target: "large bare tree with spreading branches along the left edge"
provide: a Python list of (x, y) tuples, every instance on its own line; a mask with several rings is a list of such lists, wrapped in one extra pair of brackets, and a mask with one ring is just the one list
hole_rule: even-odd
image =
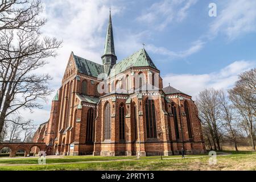
[[(40, 1), (2, 1), (5, 2), (14, 2), (6, 8), (1, 4), (5, 22), (8, 11), (16, 11), (15, 3), (24, 5), (22, 10), (29, 10), (22, 13), (21, 19), (25, 21), (22, 24), (18, 20), (18, 25), (1, 25), (5, 28), (0, 31), (0, 132), (7, 118), (20, 108), (42, 107), (38, 100), (46, 100), (51, 93), (48, 87), (51, 77), (36, 71), (47, 64), (47, 58), (56, 56), (56, 49), (61, 45), (56, 39), (43, 37), (39, 32), (45, 22), (38, 16), (42, 10)], [(13, 28), (6, 28), (11, 25)]]

